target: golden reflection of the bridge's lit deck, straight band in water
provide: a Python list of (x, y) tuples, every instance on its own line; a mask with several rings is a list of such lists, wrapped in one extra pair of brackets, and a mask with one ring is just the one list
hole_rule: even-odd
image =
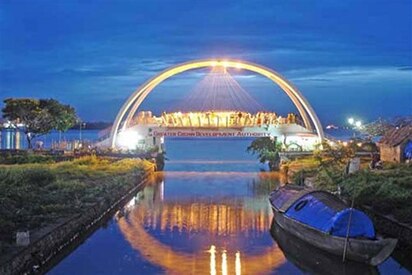
[[(260, 201), (260, 200), (259, 200)], [(257, 207), (256, 207), (257, 205)], [(145, 227), (163, 233), (177, 230), (191, 233), (208, 232), (212, 236), (261, 236), (270, 227), (271, 209), (267, 203), (253, 199), (228, 201), (164, 201), (162, 204), (141, 202), (133, 209)]]

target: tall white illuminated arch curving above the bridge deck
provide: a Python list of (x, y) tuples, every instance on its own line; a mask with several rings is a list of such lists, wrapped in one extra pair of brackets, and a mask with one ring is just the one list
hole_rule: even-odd
[[(116, 145), (116, 134), (119, 130), (120, 123), (122, 122), (125, 115), (128, 113), (126, 121), (124, 123), (124, 128), (127, 127), (128, 123), (131, 121), (134, 113), (139, 108), (140, 104), (145, 100), (145, 98), (150, 94), (150, 92), (164, 80), (172, 77), (176, 74), (180, 74), (182, 72), (210, 67), (210, 66), (225, 66), (228, 68), (239, 68), (249, 70), (260, 75), (263, 75), (277, 85), (279, 85), (282, 90), (289, 96), (292, 100), (293, 104), (299, 111), (305, 126), (307, 129), (312, 130), (312, 124), (315, 126), (316, 132), (320, 140), (324, 139), (324, 133), (322, 125), (317, 117), (315, 111), (313, 110), (312, 106), (306, 100), (306, 98), (299, 92), (299, 90), (292, 85), (286, 78), (278, 74), (277, 72), (269, 69), (267, 67), (251, 63), (245, 61), (236, 61), (236, 60), (219, 60), (219, 59), (205, 59), (205, 60), (193, 60), (186, 63), (178, 64), (176, 66), (170, 67), (163, 72), (159, 73), (158, 75), (154, 76), (153, 78), (149, 79), (145, 83), (143, 83), (140, 87), (138, 87), (135, 92), (130, 95), (130, 97), (126, 100), (126, 102), (121, 107), (119, 113), (116, 116), (116, 119), (113, 123), (112, 130), (110, 132), (110, 144), (111, 147), (115, 147)], [(133, 104), (133, 106), (132, 106)], [(132, 108), (131, 108), (132, 107)], [(309, 117), (308, 117), (309, 115)]]

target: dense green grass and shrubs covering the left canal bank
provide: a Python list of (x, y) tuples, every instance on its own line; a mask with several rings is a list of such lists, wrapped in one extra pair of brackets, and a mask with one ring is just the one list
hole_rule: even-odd
[(112, 200), (136, 182), (147, 161), (113, 161), (94, 156), (53, 164), (0, 166), (0, 241), (17, 230), (87, 211), (100, 200)]

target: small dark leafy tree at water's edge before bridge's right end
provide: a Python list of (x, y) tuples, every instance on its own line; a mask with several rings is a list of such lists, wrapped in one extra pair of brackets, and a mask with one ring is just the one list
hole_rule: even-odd
[(271, 171), (279, 170), (280, 155), (282, 144), (276, 138), (261, 137), (257, 138), (247, 147), (246, 151), (257, 154), (261, 163), (268, 162)]

